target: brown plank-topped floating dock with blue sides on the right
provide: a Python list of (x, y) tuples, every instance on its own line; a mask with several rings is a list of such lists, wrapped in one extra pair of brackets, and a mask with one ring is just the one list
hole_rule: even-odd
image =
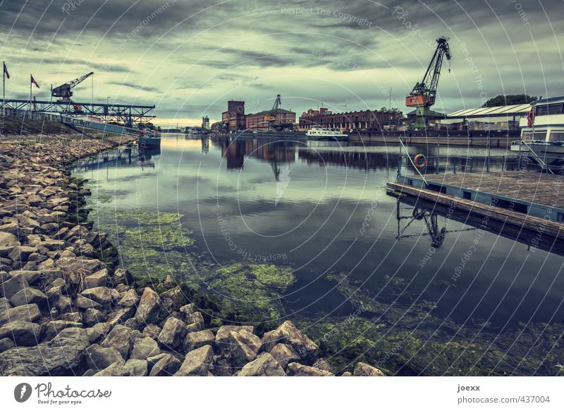
[(564, 175), (539, 172), (398, 176), (396, 193), (564, 239)]

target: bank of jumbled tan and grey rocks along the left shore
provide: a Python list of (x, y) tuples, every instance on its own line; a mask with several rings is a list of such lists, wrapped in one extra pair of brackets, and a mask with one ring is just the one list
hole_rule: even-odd
[[(212, 327), (183, 283), (167, 276), (136, 288), (116, 268), (116, 249), (87, 219), (90, 191), (63, 167), (126, 142), (78, 133), (3, 141), (0, 375), (333, 376), (290, 321), (263, 335)], [(384, 375), (362, 362), (341, 375), (353, 374)]]

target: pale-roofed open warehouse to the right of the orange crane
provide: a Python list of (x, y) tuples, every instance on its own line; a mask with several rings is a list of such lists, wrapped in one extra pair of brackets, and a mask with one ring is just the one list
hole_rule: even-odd
[(531, 111), (530, 104), (462, 109), (436, 120), (437, 131), (518, 131), (519, 120)]

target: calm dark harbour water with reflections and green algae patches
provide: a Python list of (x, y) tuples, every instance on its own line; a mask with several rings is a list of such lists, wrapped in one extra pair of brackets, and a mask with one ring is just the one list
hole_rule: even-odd
[[(410, 151), (437, 154), (436, 146)], [(338, 367), (364, 358), (408, 375), (557, 374), (563, 256), (448, 212), (412, 218), (412, 205), (386, 194), (399, 154), (389, 145), (178, 136), (143, 161), (113, 150), (76, 171), (91, 180), (92, 218), (130, 256), (125, 266), (138, 275), (168, 270), (235, 306), (248, 302), (249, 287), (255, 308), (300, 324)], [(171, 232), (190, 241), (169, 231), (161, 244), (124, 237), (135, 224), (116, 213), (147, 211), (182, 215)], [(250, 275), (223, 287), (238, 277), (210, 271), (234, 263), (288, 268), (295, 282), (269, 288)]]

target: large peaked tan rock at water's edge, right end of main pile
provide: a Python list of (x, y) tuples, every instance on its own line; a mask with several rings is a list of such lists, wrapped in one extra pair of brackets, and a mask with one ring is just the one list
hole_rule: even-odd
[(312, 364), (319, 352), (317, 344), (298, 330), (292, 321), (284, 321), (276, 330), (264, 333), (262, 350), (270, 352), (278, 342), (290, 345), (305, 364)]

